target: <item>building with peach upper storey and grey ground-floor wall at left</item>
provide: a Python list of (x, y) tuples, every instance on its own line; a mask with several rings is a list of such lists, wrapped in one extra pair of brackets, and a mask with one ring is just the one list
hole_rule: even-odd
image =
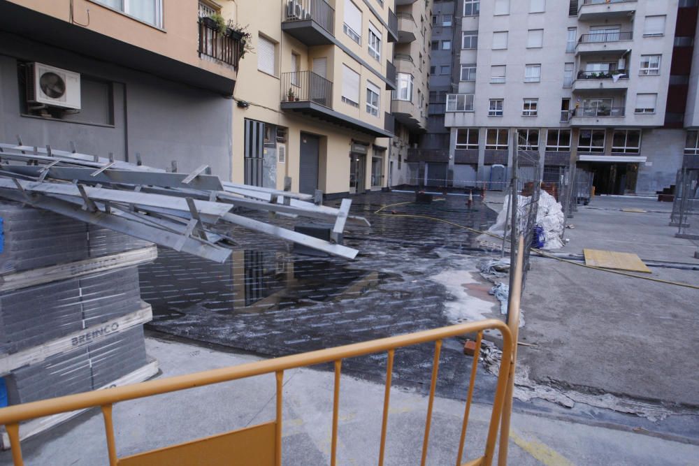
[(0, 141), (230, 179), (241, 36), (203, 15), (194, 1), (0, 1)]

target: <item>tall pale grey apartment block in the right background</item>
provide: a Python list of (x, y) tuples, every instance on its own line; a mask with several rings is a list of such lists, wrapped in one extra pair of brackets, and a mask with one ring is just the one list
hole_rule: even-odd
[(593, 173), (598, 193), (675, 184), (697, 144), (696, 1), (460, 0), (457, 10), (449, 155), (426, 162), (450, 175), (436, 184), (491, 181), (515, 143), (538, 152), (545, 178), (570, 163)]

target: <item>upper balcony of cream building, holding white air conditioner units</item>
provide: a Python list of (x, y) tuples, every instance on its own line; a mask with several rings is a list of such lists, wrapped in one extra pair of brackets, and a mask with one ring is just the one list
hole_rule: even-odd
[(305, 45), (331, 45), (335, 10), (325, 0), (287, 0), (282, 31)]

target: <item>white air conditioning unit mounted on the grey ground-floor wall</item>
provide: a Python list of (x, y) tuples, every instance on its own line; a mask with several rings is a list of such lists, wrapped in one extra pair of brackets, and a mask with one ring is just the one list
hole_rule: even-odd
[(80, 110), (80, 73), (27, 64), (27, 102)]

